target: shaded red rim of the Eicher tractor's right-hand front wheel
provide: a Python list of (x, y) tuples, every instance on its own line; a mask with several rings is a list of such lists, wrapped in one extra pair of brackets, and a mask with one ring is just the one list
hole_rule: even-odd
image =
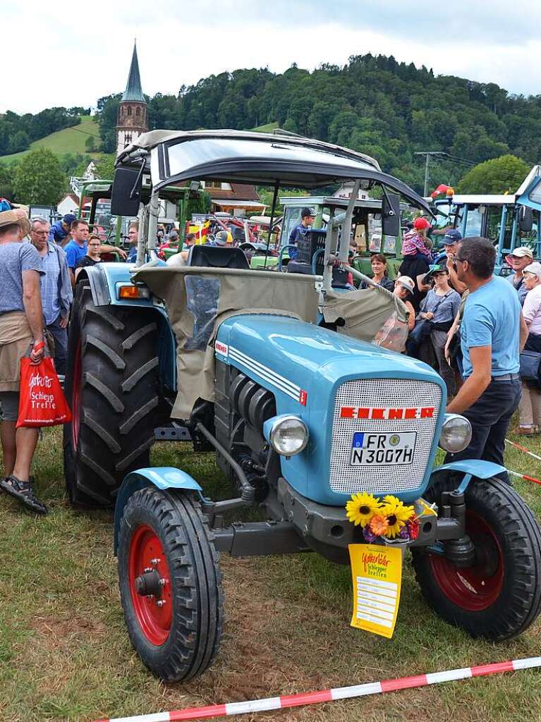
[(482, 612), (500, 596), (503, 554), (493, 530), (473, 511), (466, 512), (466, 533), (475, 547), (472, 567), (459, 569), (437, 554), (430, 554), (430, 567), (436, 583), (453, 604), (467, 612)]

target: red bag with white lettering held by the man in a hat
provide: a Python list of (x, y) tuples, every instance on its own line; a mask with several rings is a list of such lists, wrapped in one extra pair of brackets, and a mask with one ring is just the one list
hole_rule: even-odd
[(72, 412), (60, 386), (51, 358), (38, 364), (21, 359), (19, 418), (20, 426), (56, 426), (72, 420)]

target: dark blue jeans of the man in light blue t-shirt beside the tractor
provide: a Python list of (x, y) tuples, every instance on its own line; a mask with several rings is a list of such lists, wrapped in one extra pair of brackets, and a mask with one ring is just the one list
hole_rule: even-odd
[[(464, 451), (448, 453), (445, 463), (467, 458), (482, 458), (494, 464), (503, 464), (506, 434), (511, 417), (519, 406), (520, 379), (492, 380), (475, 404), (462, 412), (472, 425), (472, 440)], [(507, 471), (498, 478), (509, 484)]]

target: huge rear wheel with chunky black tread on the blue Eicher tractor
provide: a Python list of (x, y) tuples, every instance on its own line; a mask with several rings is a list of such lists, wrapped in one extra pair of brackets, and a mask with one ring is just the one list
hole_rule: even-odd
[(159, 402), (152, 310), (97, 306), (77, 284), (68, 337), (64, 471), (72, 503), (109, 506), (126, 473), (148, 466)]

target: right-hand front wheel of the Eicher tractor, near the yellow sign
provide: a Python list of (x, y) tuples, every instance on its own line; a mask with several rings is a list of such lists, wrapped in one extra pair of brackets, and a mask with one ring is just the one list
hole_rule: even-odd
[[(439, 503), (456, 484), (442, 477), (425, 498)], [(471, 567), (412, 549), (417, 582), (428, 604), (472, 637), (501, 641), (524, 632), (541, 612), (541, 529), (532, 510), (500, 479), (473, 479), (466, 495)]]

